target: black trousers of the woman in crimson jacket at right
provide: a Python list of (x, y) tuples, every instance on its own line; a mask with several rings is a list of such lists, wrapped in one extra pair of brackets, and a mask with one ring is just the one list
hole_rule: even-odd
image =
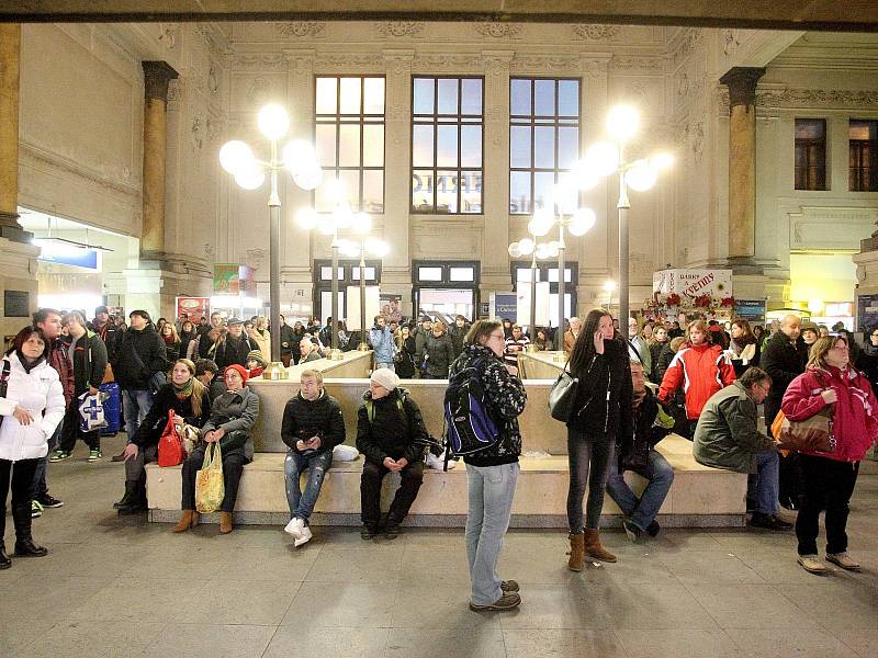
[(817, 555), (820, 510), (825, 507), (826, 554), (847, 551), (848, 502), (857, 483), (859, 462), (836, 462), (826, 457), (799, 455), (799, 514), (796, 537), (799, 555)]

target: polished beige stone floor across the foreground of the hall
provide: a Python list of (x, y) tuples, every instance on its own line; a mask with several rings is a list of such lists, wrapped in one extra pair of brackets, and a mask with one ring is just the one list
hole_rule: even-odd
[(862, 574), (806, 574), (791, 533), (677, 530), (643, 545), (606, 533), (619, 563), (575, 575), (564, 534), (518, 531), (500, 566), (524, 602), (491, 614), (466, 608), (460, 531), (367, 543), (317, 527), (296, 549), (280, 527), (120, 519), (120, 446), (50, 466), (66, 504), (34, 521), (49, 556), (0, 572), (0, 656), (878, 656), (874, 462), (849, 523)]

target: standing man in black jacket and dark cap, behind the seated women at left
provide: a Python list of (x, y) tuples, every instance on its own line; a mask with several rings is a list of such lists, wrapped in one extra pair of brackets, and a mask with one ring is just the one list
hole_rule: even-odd
[(113, 374), (122, 389), (125, 432), (131, 443), (147, 412), (153, 407), (153, 394), (165, 383), (168, 363), (165, 341), (156, 331), (149, 314), (132, 310), (131, 326), (116, 350)]

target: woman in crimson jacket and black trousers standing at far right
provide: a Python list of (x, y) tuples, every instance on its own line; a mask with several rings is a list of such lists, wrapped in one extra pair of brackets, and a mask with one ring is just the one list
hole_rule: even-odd
[(800, 453), (798, 460), (798, 561), (812, 574), (826, 570), (817, 553), (818, 521), (823, 507), (826, 560), (851, 571), (860, 568), (847, 555), (845, 526), (859, 462), (878, 435), (877, 404), (869, 381), (851, 366), (847, 341), (842, 337), (818, 339), (811, 347), (804, 373), (792, 381), (784, 395), (780, 409), (792, 421), (811, 418), (832, 405), (835, 451)]

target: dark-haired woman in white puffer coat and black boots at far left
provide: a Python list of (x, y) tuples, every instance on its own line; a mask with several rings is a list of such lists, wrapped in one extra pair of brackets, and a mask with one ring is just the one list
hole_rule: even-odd
[(48, 452), (47, 439), (64, 418), (64, 389), (58, 373), (46, 362), (48, 349), (43, 330), (26, 327), (0, 362), (0, 569), (12, 566), (3, 544), (10, 481), (15, 555), (43, 557), (48, 553), (31, 536), (34, 470)]

